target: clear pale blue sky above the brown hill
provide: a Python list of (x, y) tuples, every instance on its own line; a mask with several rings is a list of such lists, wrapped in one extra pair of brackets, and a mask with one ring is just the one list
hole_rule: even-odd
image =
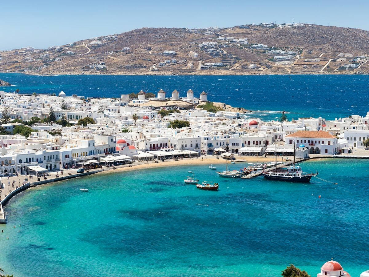
[(141, 27), (233, 27), (283, 21), (369, 30), (369, 1), (3, 0), (0, 49), (47, 48)]

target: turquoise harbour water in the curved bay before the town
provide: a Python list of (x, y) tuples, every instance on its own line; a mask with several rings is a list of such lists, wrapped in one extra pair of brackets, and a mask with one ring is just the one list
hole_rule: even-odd
[[(369, 269), (369, 161), (301, 165), (338, 184), (227, 179), (204, 165), (30, 189), (6, 206), (0, 267), (20, 277), (280, 276), (294, 263), (314, 276), (333, 257), (359, 276)], [(219, 191), (185, 185), (187, 171)]]

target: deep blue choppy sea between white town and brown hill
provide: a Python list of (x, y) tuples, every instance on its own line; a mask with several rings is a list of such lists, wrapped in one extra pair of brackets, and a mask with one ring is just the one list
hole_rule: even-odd
[[(85, 97), (120, 97), (121, 94), (159, 89), (171, 96), (174, 89), (186, 96), (188, 89), (208, 100), (244, 107), (255, 112), (250, 116), (275, 119), (280, 112), (290, 112), (289, 119), (322, 116), (327, 120), (365, 115), (368, 107), (368, 75), (241, 75), (241, 76), (126, 76), (59, 75), (34, 76), (0, 73), (0, 79), (15, 86), (1, 90), (21, 93), (56, 93), (63, 90)], [(271, 112), (270, 112), (271, 111)]]

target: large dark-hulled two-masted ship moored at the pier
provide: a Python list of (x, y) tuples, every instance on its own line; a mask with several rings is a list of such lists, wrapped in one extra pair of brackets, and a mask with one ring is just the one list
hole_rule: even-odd
[[(294, 148), (295, 149), (295, 148)], [(318, 175), (317, 173), (305, 173), (302, 171), (301, 167), (295, 165), (295, 155), (294, 155), (293, 165), (289, 167), (277, 168), (277, 144), (276, 144), (276, 161), (275, 169), (263, 170), (261, 174), (265, 179), (275, 180), (275, 181), (287, 181), (287, 182), (300, 182), (307, 183), (313, 176)]]

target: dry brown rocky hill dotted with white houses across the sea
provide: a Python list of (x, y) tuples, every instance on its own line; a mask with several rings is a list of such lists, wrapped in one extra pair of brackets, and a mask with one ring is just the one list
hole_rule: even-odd
[(369, 73), (369, 32), (313, 24), (142, 28), (0, 57), (1, 72), (45, 75), (357, 74)]

